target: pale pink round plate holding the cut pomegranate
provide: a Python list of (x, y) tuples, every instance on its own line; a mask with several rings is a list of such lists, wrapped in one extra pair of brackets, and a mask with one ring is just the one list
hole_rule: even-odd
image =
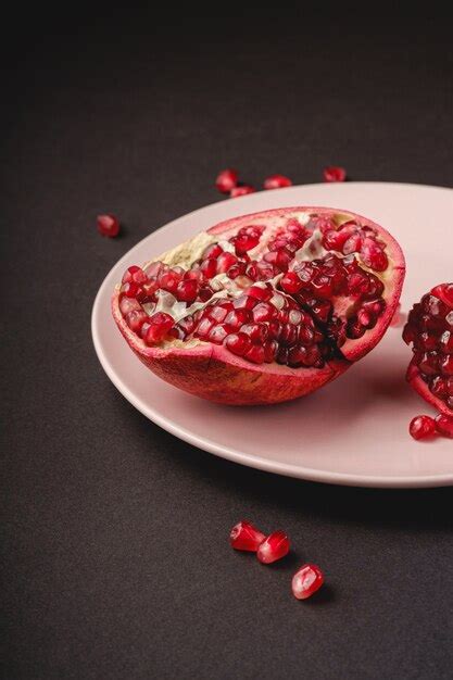
[(236, 215), (291, 205), (326, 205), (366, 215), (400, 241), (407, 261), (402, 307), (453, 280), (453, 190), (416, 185), (349, 182), (263, 191), (179, 217), (133, 248), (108, 274), (95, 301), (92, 337), (116, 388), (176, 437), (230, 461), (301, 479), (363, 487), (453, 483), (453, 441), (419, 443), (407, 425), (430, 413), (406, 386), (410, 350), (401, 328), (344, 376), (320, 391), (278, 406), (211, 404), (176, 390), (134, 356), (110, 314), (124, 269)]

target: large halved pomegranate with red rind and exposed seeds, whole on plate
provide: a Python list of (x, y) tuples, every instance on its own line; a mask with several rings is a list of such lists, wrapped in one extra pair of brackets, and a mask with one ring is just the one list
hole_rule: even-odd
[(129, 267), (115, 322), (158, 376), (225, 404), (272, 404), (320, 388), (380, 340), (404, 257), (380, 226), (326, 207), (223, 222)]

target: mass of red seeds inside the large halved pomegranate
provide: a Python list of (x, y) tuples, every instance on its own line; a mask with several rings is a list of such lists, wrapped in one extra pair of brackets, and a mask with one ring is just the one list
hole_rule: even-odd
[[(260, 259), (251, 259), (248, 253), (260, 244), (264, 228), (250, 225), (229, 239), (228, 250), (221, 243), (206, 248), (188, 270), (161, 262), (146, 269), (129, 267), (121, 289), (123, 316), (148, 344), (194, 337), (224, 344), (232, 354), (255, 364), (320, 368), (347, 338), (360, 338), (374, 328), (385, 308), (382, 282), (361, 268), (348, 242), (355, 239), (362, 257), (365, 251), (370, 253), (368, 266), (377, 270), (387, 255), (368, 227), (349, 222), (336, 229), (325, 218), (312, 226), (322, 229), (326, 250), (335, 249), (345, 256), (330, 252), (311, 262), (297, 262), (294, 254), (312, 231), (290, 219), (267, 242)], [(231, 247), (234, 253), (229, 252)], [(219, 274), (238, 279), (243, 292), (236, 299), (214, 295), (212, 279)], [(275, 284), (272, 279), (278, 276)], [(203, 308), (175, 324), (169, 314), (153, 313), (160, 297), (167, 293), (187, 306), (202, 302)], [(335, 315), (332, 298), (338, 295), (354, 301), (348, 319)]]

